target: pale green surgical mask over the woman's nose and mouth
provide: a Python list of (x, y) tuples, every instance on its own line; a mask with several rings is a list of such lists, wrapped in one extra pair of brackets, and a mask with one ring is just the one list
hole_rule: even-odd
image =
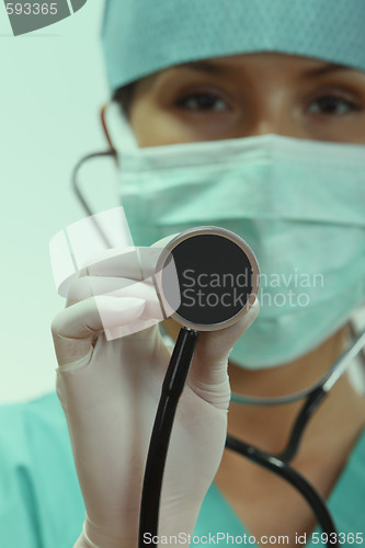
[(119, 142), (122, 204), (137, 246), (215, 225), (255, 253), (261, 310), (233, 363), (288, 363), (365, 300), (365, 147), (265, 135), (140, 149), (130, 130)]

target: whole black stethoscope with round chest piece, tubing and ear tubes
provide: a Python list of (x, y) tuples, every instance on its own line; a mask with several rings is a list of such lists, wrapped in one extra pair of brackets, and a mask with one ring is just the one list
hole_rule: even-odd
[[(89, 155), (77, 164), (72, 174), (73, 190), (89, 216), (93, 214), (80, 190), (79, 171), (85, 161), (105, 156), (115, 157), (115, 151), (110, 150)], [(96, 226), (96, 228), (105, 246), (110, 248), (107, 237), (100, 227)], [(215, 259), (217, 256), (224, 256), (225, 260), (217, 261)], [(196, 298), (196, 306), (191, 306), (192, 293), (189, 294), (189, 305), (186, 298), (182, 298), (184, 296), (183, 292), (180, 292), (180, 295), (176, 296), (175, 284), (169, 281), (169, 275), (171, 274), (168, 273), (171, 273), (172, 270), (166, 267), (169, 263), (171, 264), (171, 261), (173, 261), (174, 272), (178, 274), (180, 286), (183, 285), (182, 276), (186, 269), (190, 272), (190, 277), (194, 273), (195, 285), (198, 288), (197, 290), (201, 292), (199, 299)], [(227, 275), (227, 273), (232, 278), (235, 276), (237, 278), (237, 276), (244, 273), (248, 281), (243, 288), (241, 283), (236, 287), (236, 289), (239, 288), (242, 292), (242, 296), (240, 299), (231, 299), (231, 302), (235, 304), (231, 307), (226, 306), (227, 296), (224, 301), (221, 300), (223, 293), (219, 295), (219, 290), (216, 287), (217, 284), (215, 284), (215, 290), (212, 294), (209, 284), (205, 283), (202, 286), (198, 283), (202, 276), (204, 276), (204, 281), (206, 282), (209, 279), (209, 276), (223, 276)], [(146, 533), (149, 534), (148, 544), (157, 546), (157, 543), (153, 543), (153, 538), (158, 538), (160, 495), (170, 435), (179, 399), (182, 395), (198, 340), (198, 333), (201, 331), (227, 328), (244, 316), (258, 295), (259, 278), (259, 265), (248, 243), (233, 232), (219, 227), (197, 227), (186, 230), (171, 240), (161, 251), (155, 275), (156, 292), (162, 310), (169, 308), (171, 311), (172, 309), (173, 313), (170, 313), (169, 317), (182, 327), (162, 384), (149, 444), (140, 505), (139, 548), (145, 546), (144, 539)], [(240, 276), (241, 279), (242, 276)], [(231, 288), (233, 289), (233, 287)], [(205, 295), (204, 297), (204, 290), (208, 293), (210, 290), (209, 296)], [(227, 295), (227, 285), (224, 287), (224, 292)], [(214, 295), (214, 298), (212, 298), (212, 295)], [(202, 298), (205, 298), (204, 307), (198, 306), (198, 302), (202, 304)], [(179, 306), (176, 306), (176, 299), (179, 299)], [(224, 302), (224, 306), (219, 306), (221, 302)], [(337, 540), (335, 525), (326, 501), (306, 478), (290, 466), (290, 463), (298, 453), (309, 419), (364, 346), (365, 330), (353, 339), (349, 347), (319, 381), (306, 390), (277, 398), (259, 398), (237, 393), (233, 393), (231, 397), (231, 401), (233, 402), (256, 406), (276, 406), (292, 403), (300, 399), (305, 400), (289, 434), (287, 445), (281, 454), (269, 454), (230, 435), (227, 436), (226, 447), (273, 471), (297, 489), (311, 507), (323, 533), (327, 534), (328, 540), (326, 544), (331, 547), (339, 547), (340, 544)]]

